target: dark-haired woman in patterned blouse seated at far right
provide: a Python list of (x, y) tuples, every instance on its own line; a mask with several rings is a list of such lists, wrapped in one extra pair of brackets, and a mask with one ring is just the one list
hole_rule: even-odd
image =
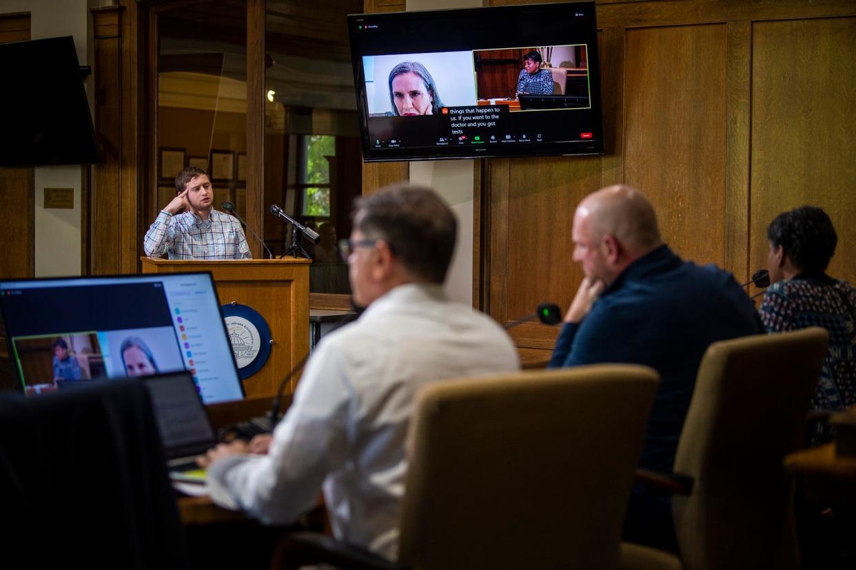
[(808, 326), (829, 331), (829, 350), (811, 408), (844, 409), (856, 404), (856, 288), (826, 274), (838, 242), (832, 220), (823, 209), (803, 206), (776, 216), (767, 228), (767, 238), (773, 285), (761, 303), (764, 326), (769, 332)]

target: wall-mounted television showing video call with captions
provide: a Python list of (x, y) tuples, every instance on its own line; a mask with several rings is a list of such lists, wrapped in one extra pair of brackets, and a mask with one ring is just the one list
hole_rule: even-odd
[(348, 16), (366, 162), (603, 152), (595, 4)]

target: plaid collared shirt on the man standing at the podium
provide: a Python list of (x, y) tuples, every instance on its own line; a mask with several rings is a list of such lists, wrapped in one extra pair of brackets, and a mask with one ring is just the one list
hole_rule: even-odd
[(169, 259), (252, 259), (241, 222), (211, 209), (208, 220), (193, 212), (172, 215), (161, 210), (143, 240), (146, 256)]

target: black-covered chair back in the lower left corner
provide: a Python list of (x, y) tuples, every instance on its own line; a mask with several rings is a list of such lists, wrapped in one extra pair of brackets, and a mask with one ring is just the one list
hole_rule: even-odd
[(187, 568), (146, 386), (0, 396), (3, 540), (32, 567)]

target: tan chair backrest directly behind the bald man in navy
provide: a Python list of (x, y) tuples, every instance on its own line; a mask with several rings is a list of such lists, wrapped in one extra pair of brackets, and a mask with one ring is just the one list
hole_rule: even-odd
[(799, 332), (710, 345), (675, 455), (693, 477), (673, 497), (688, 570), (797, 568), (793, 479), (782, 460), (804, 440), (809, 400), (829, 335)]

